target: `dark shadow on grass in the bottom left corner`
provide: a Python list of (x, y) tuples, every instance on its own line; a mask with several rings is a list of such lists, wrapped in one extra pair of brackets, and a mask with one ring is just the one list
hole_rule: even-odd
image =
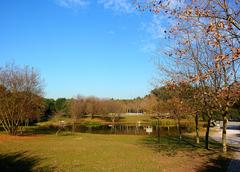
[(38, 167), (42, 159), (28, 156), (26, 152), (0, 154), (1, 172), (51, 172), (54, 167)]

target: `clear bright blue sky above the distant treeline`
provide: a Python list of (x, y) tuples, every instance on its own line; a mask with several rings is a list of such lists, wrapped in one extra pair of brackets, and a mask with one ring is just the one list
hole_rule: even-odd
[(48, 98), (142, 97), (160, 21), (131, 0), (1, 0), (0, 66), (34, 67)]

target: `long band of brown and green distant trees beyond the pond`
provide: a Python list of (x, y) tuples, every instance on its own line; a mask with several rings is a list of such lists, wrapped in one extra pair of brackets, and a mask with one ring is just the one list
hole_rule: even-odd
[[(88, 115), (94, 118), (95, 115), (105, 116), (110, 113), (147, 113), (153, 116), (159, 113), (162, 117), (171, 116), (173, 118), (174, 115), (171, 113), (173, 104), (168, 100), (170, 100), (170, 95), (165, 87), (152, 90), (144, 98), (128, 100), (101, 99), (93, 96), (77, 96), (72, 99), (58, 98), (56, 100), (44, 98), (44, 110), (40, 120), (46, 121), (53, 115), (74, 116), (74, 118)], [(189, 108), (191, 109), (191, 107)], [(186, 112), (191, 113), (190, 111)], [(186, 115), (185, 117), (182, 115), (182, 117), (187, 118)], [(204, 114), (201, 117), (205, 120)], [(214, 119), (221, 120), (221, 115), (217, 111), (214, 113)], [(229, 119), (240, 120), (240, 101), (230, 109)]]

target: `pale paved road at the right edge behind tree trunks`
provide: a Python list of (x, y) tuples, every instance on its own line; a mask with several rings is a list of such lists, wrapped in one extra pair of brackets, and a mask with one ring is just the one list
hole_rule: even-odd
[[(220, 127), (216, 130), (217, 132), (214, 132), (211, 137), (219, 142), (222, 142), (222, 130)], [(228, 123), (227, 143), (228, 145), (236, 147), (234, 159), (231, 160), (227, 172), (240, 172), (240, 122)]]

